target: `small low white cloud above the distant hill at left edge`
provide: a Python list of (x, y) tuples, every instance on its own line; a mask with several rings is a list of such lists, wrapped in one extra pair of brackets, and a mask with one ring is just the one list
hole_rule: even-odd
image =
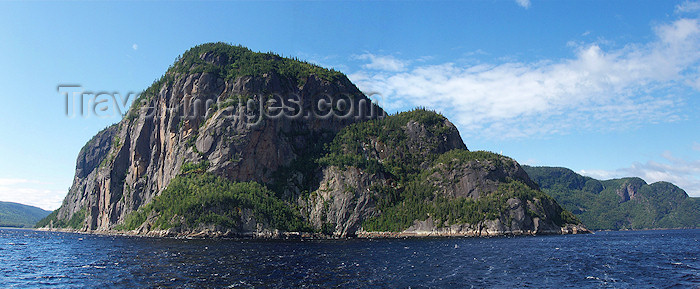
[(55, 190), (54, 184), (38, 180), (0, 178), (0, 201), (57, 209), (66, 191)]

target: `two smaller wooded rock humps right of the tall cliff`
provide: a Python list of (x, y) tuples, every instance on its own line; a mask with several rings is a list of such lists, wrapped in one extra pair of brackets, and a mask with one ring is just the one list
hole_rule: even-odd
[(456, 127), (433, 112), (353, 124), (330, 148), (307, 202), (315, 204), (313, 225), (335, 236), (587, 232), (517, 162), (468, 151)]

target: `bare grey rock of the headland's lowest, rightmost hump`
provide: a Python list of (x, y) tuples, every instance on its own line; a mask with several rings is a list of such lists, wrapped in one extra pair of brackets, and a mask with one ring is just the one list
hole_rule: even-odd
[[(447, 154), (449, 155), (449, 154)], [(450, 162), (445, 160), (452, 159)], [(414, 221), (403, 231), (415, 236), (496, 236), (534, 235), (588, 232), (574, 219), (563, 220), (564, 210), (552, 198), (543, 194), (508, 195), (504, 184), (518, 182), (518, 190), (538, 192), (537, 185), (514, 160), (504, 156), (491, 156), (478, 160), (459, 160), (458, 157), (441, 158), (427, 177), (436, 194), (448, 200), (466, 198), (476, 200), (506, 196), (500, 212), (494, 218), (483, 218), (472, 223), (448, 220), (436, 222)], [(505, 200), (505, 201), (503, 201)], [(498, 205), (492, 204), (492, 205)]]

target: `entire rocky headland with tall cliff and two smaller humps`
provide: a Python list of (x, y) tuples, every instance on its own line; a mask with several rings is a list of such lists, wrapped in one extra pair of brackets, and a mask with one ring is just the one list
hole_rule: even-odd
[(386, 116), (341, 73), (211, 43), (83, 147), (63, 205), (40, 224), (171, 236), (585, 230), (567, 213), (515, 161), (469, 152), (434, 112)]

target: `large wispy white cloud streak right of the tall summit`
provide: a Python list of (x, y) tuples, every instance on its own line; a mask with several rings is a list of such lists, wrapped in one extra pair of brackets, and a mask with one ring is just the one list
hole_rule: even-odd
[(674, 92), (692, 88), (689, 81), (700, 75), (700, 23), (678, 19), (654, 32), (649, 43), (609, 50), (572, 44), (571, 59), (530, 63), (409, 67), (409, 61), (367, 53), (360, 58), (370, 61), (367, 70), (350, 78), (363, 91), (380, 92), (389, 111), (426, 106), (453, 119), (464, 134), (481, 137), (677, 121), (687, 96)]

